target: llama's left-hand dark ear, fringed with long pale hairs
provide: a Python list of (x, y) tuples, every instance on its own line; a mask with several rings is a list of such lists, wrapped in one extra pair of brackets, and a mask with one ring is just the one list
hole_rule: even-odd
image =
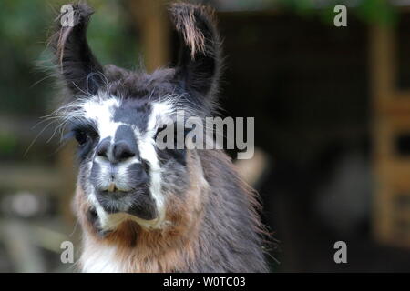
[(97, 94), (104, 84), (103, 68), (87, 44), (87, 25), (93, 12), (85, 4), (64, 5), (50, 42), (59, 73), (75, 95)]

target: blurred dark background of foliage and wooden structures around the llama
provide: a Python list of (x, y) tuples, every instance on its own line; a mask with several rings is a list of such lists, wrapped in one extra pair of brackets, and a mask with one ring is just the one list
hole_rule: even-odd
[[(172, 64), (167, 2), (88, 1), (100, 62)], [(277, 240), (272, 271), (410, 271), (410, 1), (201, 2), (224, 40), (222, 115), (255, 117), (255, 156), (236, 165)], [(74, 146), (42, 118), (58, 99), (46, 40), (63, 4), (0, 2), (0, 272), (76, 270), (60, 261), (63, 241), (80, 246)], [(347, 264), (333, 261), (339, 240)]]

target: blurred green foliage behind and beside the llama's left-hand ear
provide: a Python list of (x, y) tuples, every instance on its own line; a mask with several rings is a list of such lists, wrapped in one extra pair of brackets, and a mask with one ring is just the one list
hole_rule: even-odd
[[(67, 2), (67, 1), (66, 1)], [(0, 1), (0, 114), (42, 115), (49, 101), (51, 55), (46, 49), (50, 28), (63, 1)], [(138, 63), (136, 37), (122, 1), (91, 0), (88, 39), (102, 64), (132, 67)]]

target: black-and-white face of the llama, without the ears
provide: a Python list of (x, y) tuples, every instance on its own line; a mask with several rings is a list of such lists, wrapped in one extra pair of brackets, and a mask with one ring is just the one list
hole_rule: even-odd
[(175, 121), (175, 101), (163, 99), (100, 93), (68, 106), (78, 143), (79, 183), (87, 189), (102, 230), (124, 219), (158, 227), (169, 193), (183, 191), (185, 150), (156, 145), (159, 131)]

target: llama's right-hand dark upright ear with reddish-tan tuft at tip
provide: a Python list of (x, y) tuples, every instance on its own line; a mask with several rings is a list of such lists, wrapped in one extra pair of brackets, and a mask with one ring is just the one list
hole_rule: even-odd
[(186, 3), (171, 5), (169, 11), (180, 39), (176, 76), (188, 91), (211, 97), (220, 75), (220, 36), (213, 12)]

